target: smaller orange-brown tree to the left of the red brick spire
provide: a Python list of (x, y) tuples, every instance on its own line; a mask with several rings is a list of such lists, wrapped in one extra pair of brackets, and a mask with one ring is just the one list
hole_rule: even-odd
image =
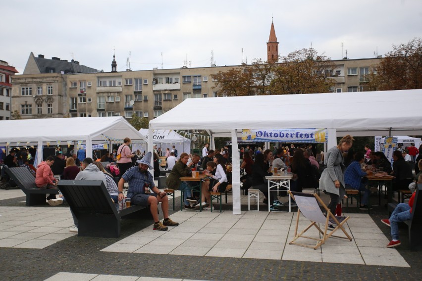
[(248, 67), (233, 68), (225, 72), (219, 71), (211, 74), (212, 80), (216, 80), (212, 89), (219, 88), (218, 96), (241, 96), (250, 95), (253, 86), (252, 72)]

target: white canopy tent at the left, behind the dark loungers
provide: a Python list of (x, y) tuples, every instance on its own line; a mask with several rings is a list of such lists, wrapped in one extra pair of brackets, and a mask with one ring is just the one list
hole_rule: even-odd
[[(0, 132), (0, 143), (29, 141), (41, 147), (46, 142), (83, 141), (87, 155), (92, 155), (93, 141), (147, 141), (122, 116), (6, 120), (0, 122)], [(37, 153), (40, 161), (41, 149)]]

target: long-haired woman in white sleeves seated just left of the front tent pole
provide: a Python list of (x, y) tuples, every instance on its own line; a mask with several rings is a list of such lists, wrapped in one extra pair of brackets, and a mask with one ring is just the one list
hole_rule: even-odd
[[(199, 203), (195, 206), (195, 208), (199, 208), (200, 204), (203, 207), (206, 207), (206, 199), (207, 202), (211, 203), (211, 195), (210, 192), (224, 192), (228, 185), (227, 182), (227, 170), (225, 168), (226, 159), (221, 154), (217, 154), (214, 157), (214, 162), (207, 163), (207, 170), (204, 171), (204, 174), (211, 178), (208, 182), (204, 182), (202, 184), (202, 203)], [(212, 171), (215, 169), (215, 174), (212, 174)], [(211, 172), (210, 172), (211, 170)], [(204, 208), (206, 209), (206, 208)]]

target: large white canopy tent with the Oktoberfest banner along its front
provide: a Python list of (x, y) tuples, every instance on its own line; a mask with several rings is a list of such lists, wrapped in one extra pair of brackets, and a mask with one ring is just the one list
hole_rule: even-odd
[[(422, 90), (357, 93), (295, 94), (241, 97), (189, 98), (150, 121), (153, 129), (208, 130), (213, 137), (237, 137), (242, 129), (326, 128), (327, 145), (336, 137), (422, 135), (422, 112), (406, 110), (397, 101), (421, 104)], [(212, 115), (186, 118), (192, 108), (211, 108)], [(149, 150), (153, 142), (149, 142)], [(239, 154), (233, 154), (233, 214), (240, 214)]]

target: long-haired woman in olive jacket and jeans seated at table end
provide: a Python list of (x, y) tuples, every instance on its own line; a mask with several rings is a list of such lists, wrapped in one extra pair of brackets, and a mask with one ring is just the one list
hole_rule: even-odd
[(174, 164), (173, 169), (171, 169), (170, 174), (165, 180), (165, 184), (167, 188), (184, 191), (183, 199), (185, 202), (185, 209), (194, 209), (195, 207), (193, 206), (193, 203), (191, 206), (191, 203), (188, 201), (188, 199), (193, 200), (191, 187), (188, 183), (180, 181), (180, 178), (192, 175), (191, 168), (186, 166), (188, 160), (188, 153), (183, 152), (180, 154), (180, 159), (177, 160), (176, 164)]

